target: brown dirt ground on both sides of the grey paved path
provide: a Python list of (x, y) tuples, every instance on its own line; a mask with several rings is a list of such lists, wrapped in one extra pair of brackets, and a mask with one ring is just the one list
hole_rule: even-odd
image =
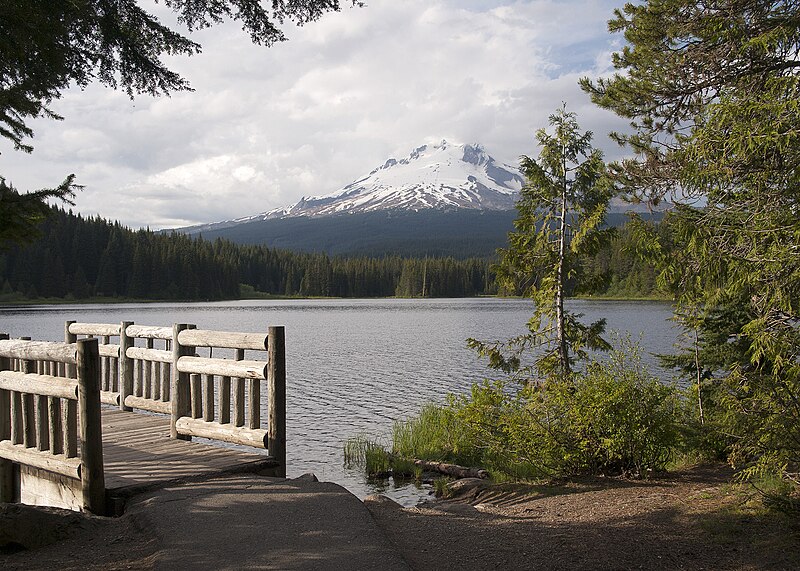
[[(385, 498), (365, 505), (417, 570), (800, 569), (800, 522), (765, 512), (730, 477), (716, 466), (650, 481), (462, 480), (454, 498), (424, 507)], [(3, 505), (0, 567), (158, 568), (159, 540), (140, 518)]]

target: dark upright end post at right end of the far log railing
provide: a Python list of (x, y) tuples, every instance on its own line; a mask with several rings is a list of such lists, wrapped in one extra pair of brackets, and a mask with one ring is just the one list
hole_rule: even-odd
[(283, 327), (269, 328), (269, 438), (270, 456), (280, 462), (277, 475), (286, 477), (286, 332)]

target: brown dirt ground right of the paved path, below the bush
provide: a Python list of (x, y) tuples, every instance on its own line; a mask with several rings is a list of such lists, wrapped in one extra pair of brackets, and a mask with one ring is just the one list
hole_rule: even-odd
[(651, 481), (461, 481), (427, 507), (366, 503), (413, 569), (800, 569), (800, 522), (730, 477), (716, 466)]

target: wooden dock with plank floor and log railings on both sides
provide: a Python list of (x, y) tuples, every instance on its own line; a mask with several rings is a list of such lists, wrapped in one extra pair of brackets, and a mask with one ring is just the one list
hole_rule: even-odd
[(180, 482), (285, 476), (284, 339), (129, 321), (68, 321), (64, 343), (0, 333), (0, 501), (117, 515)]

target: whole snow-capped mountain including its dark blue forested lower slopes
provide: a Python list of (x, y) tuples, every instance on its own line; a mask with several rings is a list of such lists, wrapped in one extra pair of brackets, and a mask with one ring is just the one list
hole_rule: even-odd
[[(513, 230), (523, 184), (519, 169), (481, 145), (442, 140), (389, 158), (335, 192), (176, 231), (333, 255), (490, 257)], [(610, 225), (622, 220), (615, 211), (629, 209), (621, 206)]]

